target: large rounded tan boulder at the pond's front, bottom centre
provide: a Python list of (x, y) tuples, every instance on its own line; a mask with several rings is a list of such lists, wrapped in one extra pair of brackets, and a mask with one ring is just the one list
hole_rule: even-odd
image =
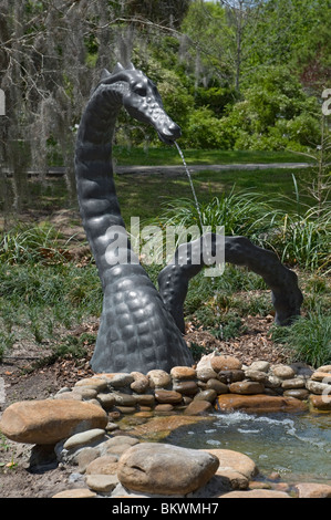
[(201, 450), (141, 443), (121, 457), (117, 477), (134, 491), (186, 495), (206, 485), (218, 465), (217, 457)]

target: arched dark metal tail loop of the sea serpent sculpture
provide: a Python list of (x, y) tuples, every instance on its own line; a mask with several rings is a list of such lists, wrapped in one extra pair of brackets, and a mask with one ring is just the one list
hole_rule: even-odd
[[(189, 280), (206, 267), (204, 258), (208, 258), (208, 254), (215, 257), (216, 239), (217, 236), (211, 233), (211, 241), (201, 237), (180, 245), (172, 261), (158, 275), (159, 293), (183, 333), (185, 332), (184, 302)], [(210, 245), (210, 251), (204, 251), (206, 245)], [(271, 289), (276, 324), (289, 325), (293, 318), (300, 314), (303, 301), (297, 274), (285, 267), (272, 251), (255, 246), (245, 237), (225, 237), (224, 248), (225, 262), (247, 267), (262, 277)], [(199, 263), (193, 262), (197, 249), (200, 251)], [(184, 251), (187, 254), (186, 262), (179, 261)]]

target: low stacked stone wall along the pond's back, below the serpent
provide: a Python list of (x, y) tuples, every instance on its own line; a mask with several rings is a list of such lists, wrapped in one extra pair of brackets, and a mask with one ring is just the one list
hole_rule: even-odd
[(203, 356), (195, 368), (176, 366), (170, 373), (154, 370), (96, 374), (62, 388), (54, 398), (91, 401), (116, 419), (136, 412), (256, 412), (331, 410), (331, 365), (317, 370), (303, 363), (249, 366), (229, 355)]

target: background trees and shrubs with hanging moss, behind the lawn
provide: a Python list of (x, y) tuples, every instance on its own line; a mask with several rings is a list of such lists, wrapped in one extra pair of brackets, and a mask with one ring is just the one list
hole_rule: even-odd
[[(1, 0), (0, 164), (13, 171), (10, 184), (1, 175), (2, 207), (27, 198), (29, 168), (44, 183), (50, 165), (65, 166), (74, 195), (75, 127), (116, 61), (157, 83), (183, 146), (310, 146), (310, 95), (330, 83), (330, 20), (329, 0)], [(132, 125), (123, 113), (118, 144), (159, 145)]]

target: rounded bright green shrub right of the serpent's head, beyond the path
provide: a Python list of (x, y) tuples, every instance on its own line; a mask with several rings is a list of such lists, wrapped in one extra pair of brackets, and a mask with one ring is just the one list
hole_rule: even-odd
[(320, 141), (319, 107), (285, 67), (268, 67), (250, 77), (238, 102), (223, 119), (237, 149), (307, 149)]

